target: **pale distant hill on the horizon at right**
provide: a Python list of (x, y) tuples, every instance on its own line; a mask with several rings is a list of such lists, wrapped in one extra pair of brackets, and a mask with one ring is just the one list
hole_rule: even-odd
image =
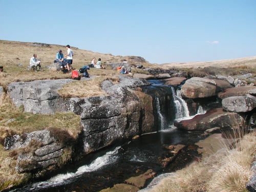
[(161, 66), (175, 67), (175, 68), (204, 68), (204, 67), (215, 67), (215, 68), (230, 68), (230, 67), (242, 67), (247, 66), (248, 68), (256, 68), (256, 56), (243, 57), (237, 59), (224, 59), (215, 61), (203, 61), (203, 62), (171, 62), (164, 63)]

